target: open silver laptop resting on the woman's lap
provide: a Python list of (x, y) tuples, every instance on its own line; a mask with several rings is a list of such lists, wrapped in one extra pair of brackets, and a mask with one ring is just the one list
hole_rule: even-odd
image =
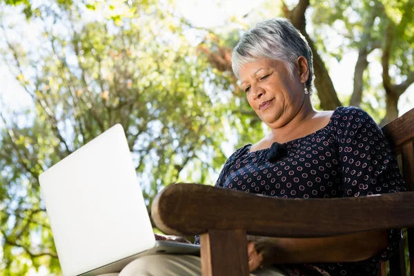
[(116, 273), (155, 253), (199, 255), (199, 246), (156, 241), (120, 124), (39, 176), (65, 276)]

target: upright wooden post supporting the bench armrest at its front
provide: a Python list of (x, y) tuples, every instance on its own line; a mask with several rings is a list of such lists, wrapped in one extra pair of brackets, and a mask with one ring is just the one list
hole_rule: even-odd
[(202, 276), (248, 276), (244, 230), (209, 230), (201, 238)]

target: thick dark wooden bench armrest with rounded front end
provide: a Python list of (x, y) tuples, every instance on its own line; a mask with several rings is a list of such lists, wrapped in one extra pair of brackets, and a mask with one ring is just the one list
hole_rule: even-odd
[(328, 237), (414, 226), (414, 192), (280, 199), (199, 184), (173, 184), (153, 202), (152, 218), (160, 230), (173, 235), (246, 229), (250, 235), (268, 237)]

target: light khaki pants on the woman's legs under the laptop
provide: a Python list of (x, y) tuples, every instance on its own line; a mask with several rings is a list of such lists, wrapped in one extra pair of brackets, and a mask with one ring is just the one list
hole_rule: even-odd
[[(264, 268), (250, 276), (286, 276), (277, 268)], [(120, 273), (99, 276), (201, 276), (201, 259), (191, 255), (147, 255), (130, 262)]]

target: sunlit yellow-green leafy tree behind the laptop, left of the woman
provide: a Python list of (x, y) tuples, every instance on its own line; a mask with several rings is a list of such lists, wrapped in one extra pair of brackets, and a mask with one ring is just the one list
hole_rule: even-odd
[(33, 101), (26, 113), (0, 109), (6, 275), (42, 264), (59, 273), (38, 177), (110, 126), (126, 130), (148, 208), (172, 182), (211, 183), (229, 135), (230, 110), (219, 101), (226, 92), (217, 94), (217, 76), (184, 36), (190, 27), (173, 3), (50, 0), (30, 10), (37, 41), (1, 26), (0, 57)]

